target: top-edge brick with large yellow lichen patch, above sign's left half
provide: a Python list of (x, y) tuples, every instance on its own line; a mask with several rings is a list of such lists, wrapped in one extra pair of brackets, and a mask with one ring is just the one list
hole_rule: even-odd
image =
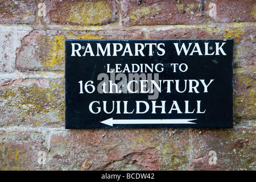
[(46, 24), (100, 25), (118, 19), (118, 5), (114, 0), (46, 0)]

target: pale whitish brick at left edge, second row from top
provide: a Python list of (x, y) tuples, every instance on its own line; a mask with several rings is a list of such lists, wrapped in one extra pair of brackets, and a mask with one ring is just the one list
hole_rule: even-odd
[(0, 26), (0, 73), (14, 71), (16, 49), (31, 30), (28, 26)]

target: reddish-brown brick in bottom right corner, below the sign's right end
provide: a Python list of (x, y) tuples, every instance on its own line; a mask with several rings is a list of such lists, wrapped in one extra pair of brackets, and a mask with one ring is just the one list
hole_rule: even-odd
[[(193, 130), (190, 134), (193, 170), (255, 170), (255, 128)], [(216, 152), (216, 163), (210, 164)]]

